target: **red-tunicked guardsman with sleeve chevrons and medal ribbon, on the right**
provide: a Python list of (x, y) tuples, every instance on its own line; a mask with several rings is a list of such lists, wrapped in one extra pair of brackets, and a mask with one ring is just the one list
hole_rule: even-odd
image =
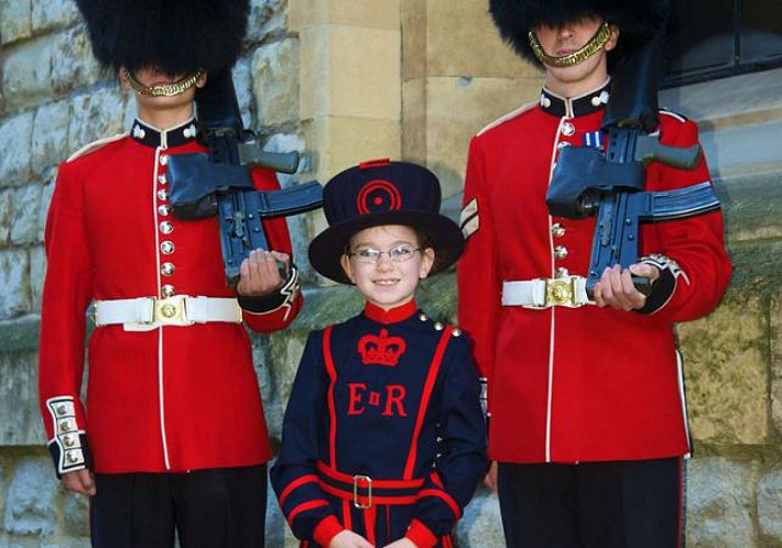
[[(600, 146), (609, 64), (655, 33), (659, 2), (492, 0), (503, 36), (545, 69), (540, 100), (471, 141), (458, 267), (459, 319), (487, 379), (488, 453), (508, 546), (674, 547), (690, 452), (675, 322), (708, 315), (732, 267), (718, 212), (644, 224), (636, 276), (608, 269), (587, 297), (595, 217), (552, 216), (563, 147)], [(613, 59), (613, 60), (612, 60)], [(698, 144), (662, 111), (665, 145)], [(652, 163), (645, 190), (709, 181)], [(566, 284), (567, 297), (547, 287)]]

